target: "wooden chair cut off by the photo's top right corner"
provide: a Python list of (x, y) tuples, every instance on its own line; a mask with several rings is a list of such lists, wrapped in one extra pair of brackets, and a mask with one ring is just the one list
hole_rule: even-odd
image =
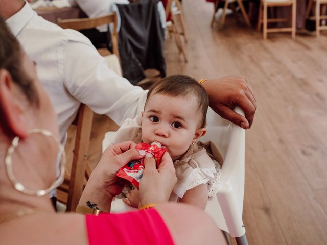
[[(316, 21), (316, 37), (319, 37), (320, 30), (327, 30), (327, 26), (320, 26), (320, 21), (323, 19), (327, 19), (327, 15), (321, 15), (321, 5), (327, 4), (327, 0), (309, 0), (305, 21), (307, 19)], [(310, 12), (313, 10), (313, 5), (315, 5), (315, 15), (309, 17)], [(323, 10), (325, 10), (326, 6), (323, 6)], [(322, 11), (325, 13), (325, 11)], [(305, 26), (305, 24), (304, 24)]]

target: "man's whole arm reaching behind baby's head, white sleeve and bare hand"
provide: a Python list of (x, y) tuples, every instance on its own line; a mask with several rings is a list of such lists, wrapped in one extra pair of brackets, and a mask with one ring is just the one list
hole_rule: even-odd
[[(110, 70), (82, 34), (71, 36), (63, 50), (64, 80), (69, 93), (96, 113), (108, 115), (118, 125), (139, 114), (144, 109), (147, 91)], [(256, 103), (244, 77), (207, 80), (202, 85), (215, 112), (244, 129), (251, 127)], [(245, 118), (233, 111), (236, 105), (243, 109)]]

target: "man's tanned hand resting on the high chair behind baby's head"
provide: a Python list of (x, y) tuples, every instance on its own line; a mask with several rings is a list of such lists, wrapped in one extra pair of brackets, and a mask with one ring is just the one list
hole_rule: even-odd
[[(251, 128), (256, 101), (251, 85), (241, 76), (228, 76), (207, 80), (202, 83), (210, 100), (210, 107), (221, 117), (239, 125), (243, 129)], [(245, 118), (233, 111), (239, 106)]]

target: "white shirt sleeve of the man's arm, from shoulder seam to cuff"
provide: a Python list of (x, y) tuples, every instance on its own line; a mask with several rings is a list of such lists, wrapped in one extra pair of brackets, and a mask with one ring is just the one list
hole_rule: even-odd
[(59, 69), (62, 69), (65, 89), (78, 101), (98, 114), (106, 114), (118, 125), (141, 113), (147, 91), (133, 86), (110, 70), (85, 36), (66, 30), (66, 37), (66, 43), (58, 54), (62, 57), (59, 58)]

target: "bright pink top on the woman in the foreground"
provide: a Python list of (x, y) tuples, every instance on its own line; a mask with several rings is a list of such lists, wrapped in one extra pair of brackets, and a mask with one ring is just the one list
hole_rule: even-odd
[(174, 244), (164, 220), (153, 208), (120, 214), (86, 215), (86, 229), (90, 245)]

